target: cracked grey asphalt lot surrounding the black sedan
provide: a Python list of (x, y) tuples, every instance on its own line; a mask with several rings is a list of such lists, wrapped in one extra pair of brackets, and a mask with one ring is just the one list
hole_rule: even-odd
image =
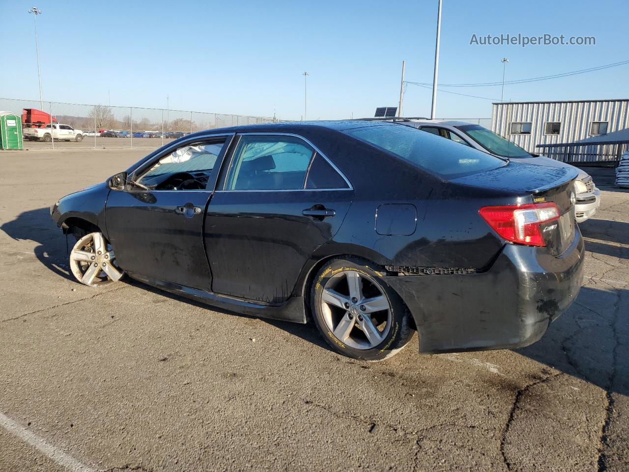
[(374, 364), (311, 325), (76, 283), (48, 207), (147, 152), (0, 152), (0, 471), (629, 470), (629, 192), (581, 225), (584, 287), (542, 340)]

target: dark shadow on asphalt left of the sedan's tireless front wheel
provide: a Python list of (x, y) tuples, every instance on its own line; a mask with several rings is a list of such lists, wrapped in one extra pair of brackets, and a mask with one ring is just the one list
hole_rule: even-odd
[(72, 236), (64, 236), (50, 218), (48, 208), (23, 211), (18, 217), (0, 226), (15, 240), (31, 240), (38, 245), (33, 249), (43, 266), (65, 279), (74, 280), (68, 267), (68, 254), (75, 243)]

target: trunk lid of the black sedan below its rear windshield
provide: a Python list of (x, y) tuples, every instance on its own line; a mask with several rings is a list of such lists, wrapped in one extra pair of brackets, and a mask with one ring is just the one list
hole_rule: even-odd
[(579, 171), (575, 167), (549, 167), (511, 161), (498, 169), (459, 177), (452, 182), (521, 194), (526, 197), (526, 201), (520, 203), (555, 203), (559, 208), (559, 220), (543, 223), (541, 229), (548, 250), (554, 256), (559, 256), (574, 239), (574, 179), (578, 175)]

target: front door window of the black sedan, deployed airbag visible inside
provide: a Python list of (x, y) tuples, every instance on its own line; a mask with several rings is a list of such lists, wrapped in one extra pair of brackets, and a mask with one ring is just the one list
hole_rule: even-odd
[(225, 140), (185, 145), (162, 156), (138, 183), (155, 190), (204, 189)]

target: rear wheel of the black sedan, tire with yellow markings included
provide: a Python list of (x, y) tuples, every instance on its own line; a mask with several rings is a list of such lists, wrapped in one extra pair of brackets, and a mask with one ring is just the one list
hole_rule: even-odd
[(313, 279), (310, 306), (315, 325), (340, 354), (382, 361), (413, 337), (411, 315), (381, 278), (383, 273), (364, 259), (341, 257), (321, 267)]

